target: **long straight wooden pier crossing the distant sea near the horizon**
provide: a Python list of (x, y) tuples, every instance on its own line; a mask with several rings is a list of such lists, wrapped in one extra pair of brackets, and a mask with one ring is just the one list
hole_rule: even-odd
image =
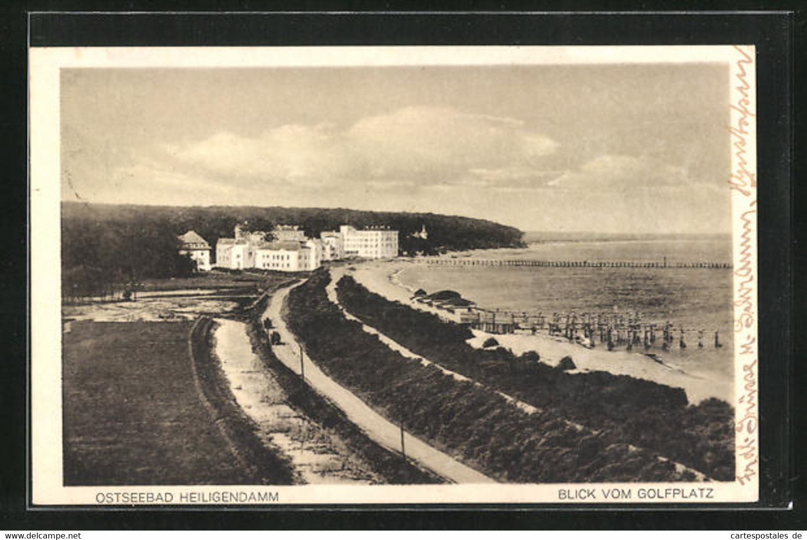
[(513, 266), (513, 267), (545, 267), (545, 268), (732, 268), (731, 263), (699, 262), (684, 263), (661, 261), (625, 261), (625, 260), (509, 260), (509, 259), (471, 259), (470, 257), (422, 257), (415, 259), (417, 263), (437, 264), (440, 266)]

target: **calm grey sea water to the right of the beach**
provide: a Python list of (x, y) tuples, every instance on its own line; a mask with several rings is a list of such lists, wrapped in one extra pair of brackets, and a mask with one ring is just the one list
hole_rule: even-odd
[[(703, 239), (580, 240), (531, 243), (524, 249), (479, 250), (454, 257), (502, 260), (730, 263), (728, 236)], [(649, 352), (701, 376), (732, 376), (732, 271), (728, 268), (554, 268), (409, 264), (395, 276), (412, 289), (452, 289), (485, 309), (516, 313), (641, 314), (670, 322), (675, 341), (662, 351), (661, 334)], [(679, 349), (679, 327), (687, 347)], [(704, 330), (704, 347), (698, 347)], [(717, 331), (722, 347), (714, 346)], [(642, 351), (643, 347), (634, 347)]]

